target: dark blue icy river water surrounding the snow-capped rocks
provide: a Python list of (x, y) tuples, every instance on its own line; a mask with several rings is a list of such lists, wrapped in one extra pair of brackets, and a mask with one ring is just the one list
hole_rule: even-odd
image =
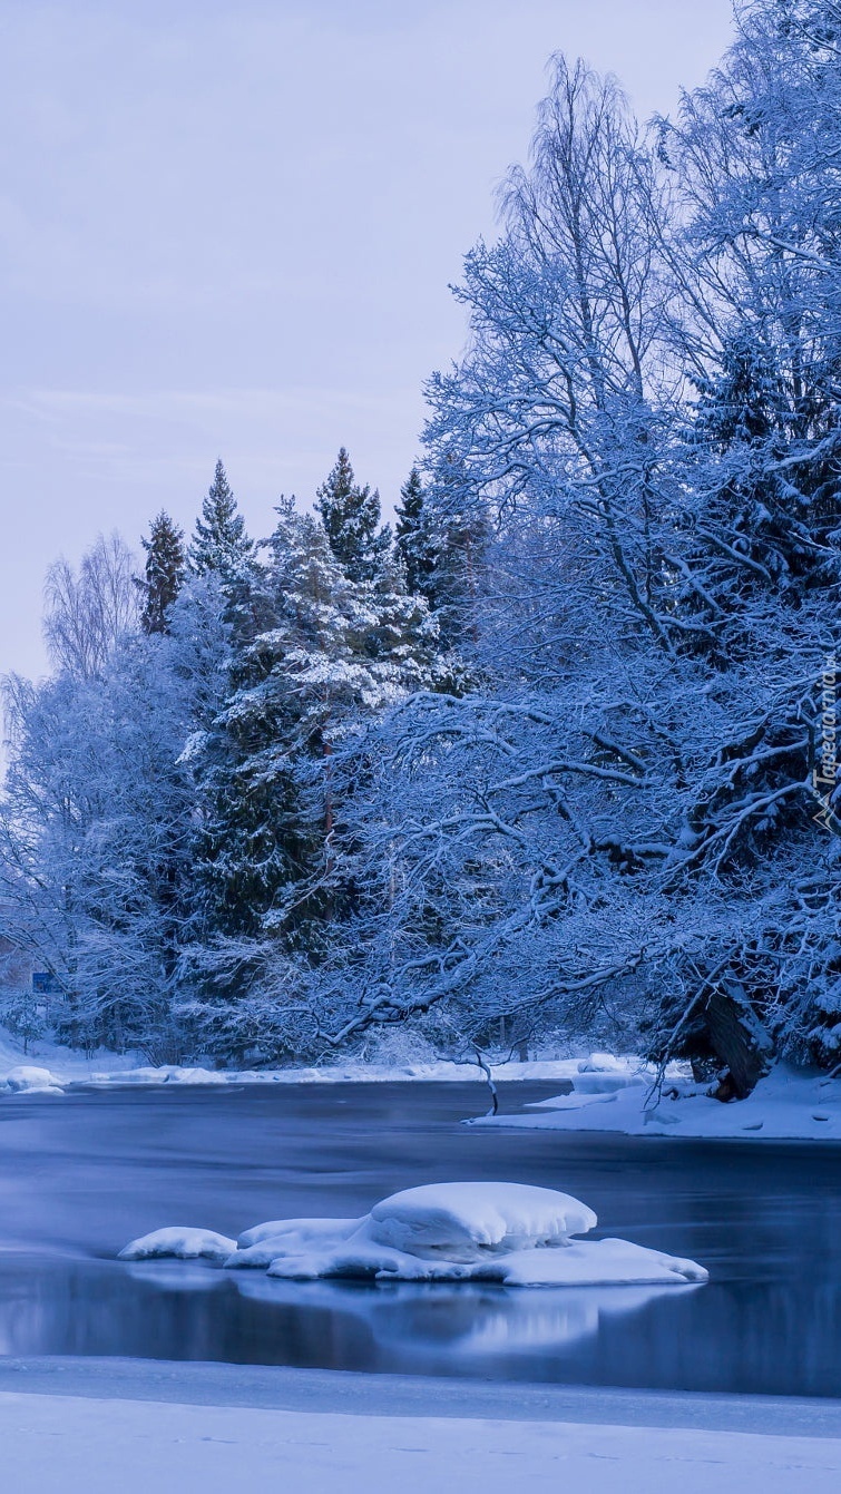
[[(518, 1109), (556, 1085), (502, 1086)], [(638, 1388), (841, 1395), (841, 1149), (460, 1125), (480, 1085), (0, 1098), (0, 1355), (133, 1355)], [(415, 1183), (505, 1179), (704, 1288), (270, 1282), (127, 1265), (134, 1236), (359, 1215)]]

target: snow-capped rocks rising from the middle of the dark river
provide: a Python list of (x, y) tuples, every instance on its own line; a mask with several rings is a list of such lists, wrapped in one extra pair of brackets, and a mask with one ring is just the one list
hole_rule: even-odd
[(122, 1261), (221, 1261), (229, 1270), (314, 1280), (496, 1282), (502, 1286), (656, 1286), (707, 1271), (629, 1240), (577, 1240), (598, 1224), (578, 1198), (524, 1183), (432, 1183), (361, 1219), (273, 1219), (233, 1240), (170, 1227), (133, 1240)]

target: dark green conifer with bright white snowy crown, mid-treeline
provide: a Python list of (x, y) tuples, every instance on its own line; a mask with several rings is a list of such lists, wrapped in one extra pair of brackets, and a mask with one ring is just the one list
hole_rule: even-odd
[[(330, 759), (357, 722), (433, 678), (435, 624), (402, 568), (351, 581), (323, 526), (278, 506), (261, 571), (266, 630), (240, 651), (208, 763), (199, 875), (227, 938), (312, 947), (336, 911)], [(318, 874), (330, 893), (302, 895)]]

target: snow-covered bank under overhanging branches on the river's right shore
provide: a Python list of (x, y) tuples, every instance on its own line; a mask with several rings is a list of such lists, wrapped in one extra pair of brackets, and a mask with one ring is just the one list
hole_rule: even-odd
[(668, 1079), (653, 1091), (648, 1076), (574, 1076), (574, 1092), (526, 1106), (521, 1115), (487, 1116), (471, 1125), (541, 1131), (621, 1131), (626, 1135), (695, 1138), (841, 1140), (841, 1082), (778, 1064), (747, 1100), (721, 1104), (704, 1086)]

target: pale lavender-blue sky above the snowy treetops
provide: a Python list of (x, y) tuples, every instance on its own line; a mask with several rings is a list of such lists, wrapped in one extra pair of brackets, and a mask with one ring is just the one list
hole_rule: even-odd
[(391, 502), (548, 55), (647, 117), (729, 30), (730, 0), (0, 0), (0, 671), (43, 668), (55, 554), (191, 526), (218, 454), (255, 533), (341, 444)]

